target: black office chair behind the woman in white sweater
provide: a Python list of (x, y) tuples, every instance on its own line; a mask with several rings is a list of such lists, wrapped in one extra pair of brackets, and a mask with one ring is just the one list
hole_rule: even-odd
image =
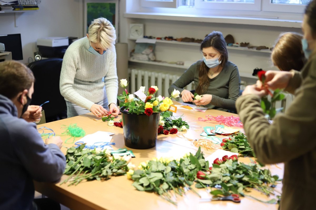
[(35, 77), (31, 105), (43, 105), (46, 122), (67, 118), (67, 107), (59, 91), (59, 77), (63, 59), (49, 58), (30, 63), (28, 67)]

